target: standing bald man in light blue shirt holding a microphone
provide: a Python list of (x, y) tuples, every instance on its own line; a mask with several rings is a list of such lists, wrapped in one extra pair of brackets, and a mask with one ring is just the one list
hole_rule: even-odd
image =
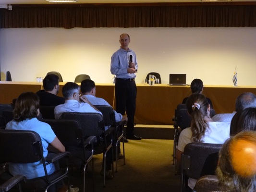
[(135, 84), (135, 73), (138, 70), (136, 54), (128, 48), (130, 36), (122, 34), (119, 38), (121, 44), (111, 57), (110, 72), (116, 75), (115, 95), (116, 111), (122, 115), (127, 114), (126, 138), (141, 140), (141, 137), (134, 135), (134, 115), (136, 108), (137, 88)]

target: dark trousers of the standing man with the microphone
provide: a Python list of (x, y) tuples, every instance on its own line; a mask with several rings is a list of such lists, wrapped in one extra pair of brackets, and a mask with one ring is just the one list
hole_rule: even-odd
[(136, 109), (137, 87), (135, 81), (116, 78), (116, 111), (128, 117), (126, 135), (134, 134), (134, 115)]

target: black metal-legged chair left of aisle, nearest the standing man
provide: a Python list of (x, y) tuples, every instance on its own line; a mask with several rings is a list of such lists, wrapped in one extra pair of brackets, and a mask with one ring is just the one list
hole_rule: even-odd
[[(115, 113), (112, 107), (104, 105), (95, 105), (96, 108), (102, 113), (104, 119), (104, 125), (114, 127), (115, 134), (115, 155), (116, 155), (116, 172), (117, 172), (117, 159), (118, 159), (118, 143), (123, 138), (123, 123), (116, 122)], [(122, 152), (123, 152), (123, 165), (125, 165), (125, 151), (124, 151), (124, 140), (122, 139)]]

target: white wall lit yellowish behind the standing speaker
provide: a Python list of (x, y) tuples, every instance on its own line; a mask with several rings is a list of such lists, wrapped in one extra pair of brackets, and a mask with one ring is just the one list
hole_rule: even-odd
[(119, 36), (128, 33), (138, 58), (136, 83), (148, 72), (186, 73), (187, 84), (256, 85), (256, 27), (210, 28), (11, 28), (0, 29), (1, 81), (10, 71), (12, 81), (36, 81), (49, 71), (63, 81), (89, 74), (96, 83), (110, 83), (110, 57)]

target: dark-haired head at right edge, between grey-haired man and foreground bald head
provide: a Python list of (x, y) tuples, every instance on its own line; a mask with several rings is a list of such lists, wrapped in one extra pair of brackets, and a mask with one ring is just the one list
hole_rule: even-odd
[(256, 131), (256, 108), (239, 110), (231, 120), (230, 135), (243, 131)]

